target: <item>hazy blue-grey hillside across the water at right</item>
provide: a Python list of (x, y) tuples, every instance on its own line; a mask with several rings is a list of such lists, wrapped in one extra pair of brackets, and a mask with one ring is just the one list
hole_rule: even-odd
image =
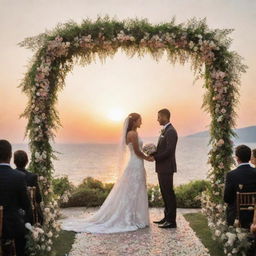
[[(236, 129), (237, 138), (235, 139), (237, 142), (256, 142), (256, 126), (249, 126), (240, 129)], [(208, 137), (209, 132), (203, 131), (188, 135), (186, 137), (194, 137), (194, 138), (203, 138)]]

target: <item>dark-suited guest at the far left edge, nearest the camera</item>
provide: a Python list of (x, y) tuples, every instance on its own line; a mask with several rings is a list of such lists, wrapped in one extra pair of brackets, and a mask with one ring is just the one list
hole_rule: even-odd
[[(0, 140), (0, 205), (3, 206), (3, 239), (14, 239), (17, 256), (25, 255), (25, 223), (32, 210), (27, 195), (25, 175), (10, 166), (11, 144)], [(26, 212), (28, 219), (20, 214)], [(33, 224), (33, 223), (32, 223)]]

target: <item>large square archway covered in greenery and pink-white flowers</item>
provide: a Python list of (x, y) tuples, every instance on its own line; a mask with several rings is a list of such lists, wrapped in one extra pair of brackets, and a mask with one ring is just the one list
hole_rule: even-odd
[[(46, 255), (47, 248), (50, 251), (50, 245), (45, 245), (44, 241), (49, 232), (54, 235), (58, 231), (54, 228), (57, 227), (57, 203), (51, 190), (52, 160), (55, 158), (51, 141), (60, 125), (55, 108), (58, 92), (74, 64), (89, 65), (96, 56), (104, 61), (118, 49), (129, 57), (150, 54), (155, 60), (166, 53), (172, 64), (190, 60), (195, 74), (204, 78), (203, 108), (212, 118), (211, 187), (203, 196), (204, 212), (210, 227), (224, 242), (226, 253), (232, 253), (234, 247), (238, 253), (243, 252), (245, 244), (239, 242), (240, 238), (236, 236), (231, 243), (227, 235), (227, 232), (237, 234), (238, 231), (226, 226), (222, 201), (224, 175), (233, 164), (232, 137), (235, 135), (240, 75), (246, 68), (241, 64), (240, 56), (229, 50), (230, 32), (232, 30), (210, 30), (205, 20), (192, 19), (178, 25), (172, 20), (152, 25), (147, 20), (118, 21), (105, 17), (95, 22), (85, 20), (81, 25), (74, 22), (58, 25), (53, 31), (20, 43), (35, 51), (21, 88), (29, 98), (23, 116), (28, 119), (26, 131), (32, 153), (30, 169), (40, 176), (46, 216), (44, 232), (36, 238), (37, 245), (34, 245), (38, 250), (36, 255)], [(240, 255), (238, 253), (236, 255)]]

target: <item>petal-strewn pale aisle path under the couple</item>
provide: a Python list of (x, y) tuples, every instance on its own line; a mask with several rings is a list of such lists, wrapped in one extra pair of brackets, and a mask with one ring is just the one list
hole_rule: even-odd
[[(70, 214), (73, 217), (79, 217), (81, 213), (86, 216), (96, 209), (64, 209), (64, 219), (61, 221), (65, 222)], [(151, 208), (151, 224), (148, 228), (115, 234), (78, 233), (69, 256), (209, 256), (182, 216), (183, 212), (178, 210), (177, 229), (160, 229), (153, 224), (152, 220), (161, 218), (163, 209)]]

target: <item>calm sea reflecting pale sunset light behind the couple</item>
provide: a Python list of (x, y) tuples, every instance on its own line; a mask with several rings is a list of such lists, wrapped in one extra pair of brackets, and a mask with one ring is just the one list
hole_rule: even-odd
[[(145, 139), (144, 143), (156, 141)], [(239, 143), (242, 144), (242, 143)], [(256, 143), (244, 143), (256, 148)], [(205, 179), (209, 147), (208, 138), (182, 137), (177, 144), (178, 171), (174, 176), (174, 184), (179, 185), (191, 180)], [(59, 160), (54, 161), (55, 176), (67, 175), (75, 184), (79, 184), (88, 176), (103, 182), (115, 182), (117, 177), (118, 153), (116, 144), (54, 144), (60, 152)], [(29, 152), (25, 144), (14, 144), (13, 150), (23, 149)], [(13, 165), (13, 163), (12, 163)], [(14, 165), (13, 165), (14, 166)], [(155, 166), (145, 161), (148, 184), (157, 184)]]

